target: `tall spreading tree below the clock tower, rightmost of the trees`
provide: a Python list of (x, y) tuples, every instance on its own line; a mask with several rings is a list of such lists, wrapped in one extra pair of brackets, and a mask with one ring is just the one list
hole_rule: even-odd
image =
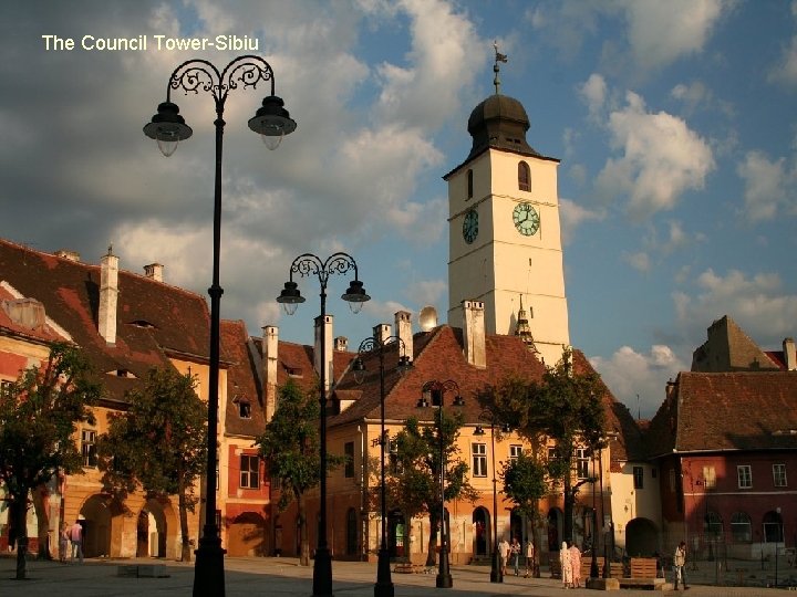
[(603, 446), (605, 387), (596, 373), (573, 370), (572, 352), (566, 350), (541, 381), (508, 379), (488, 392), (500, 420), (517, 421), (518, 431), (535, 446), (555, 442), (548, 458), (549, 478), (562, 485), (563, 537), (572, 541), (572, 512), (581, 482), (573, 483), (576, 450), (596, 451)]

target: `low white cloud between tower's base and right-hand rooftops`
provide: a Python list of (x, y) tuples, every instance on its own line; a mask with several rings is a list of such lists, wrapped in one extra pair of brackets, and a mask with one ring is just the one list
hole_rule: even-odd
[(651, 418), (664, 400), (667, 379), (674, 379), (679, 371), (689, 370), (691, 366), (665, 345), (653, 345), (648, 354), (622, 346), (611, 358), (590, 357), (589, 360), (614, 397), (634, 416), (639, 396), (643, 418)]

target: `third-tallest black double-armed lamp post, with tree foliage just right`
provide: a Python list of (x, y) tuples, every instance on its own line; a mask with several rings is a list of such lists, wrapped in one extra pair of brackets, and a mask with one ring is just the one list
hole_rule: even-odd
[[(412, 367), (412, 360), (406, 354), (406, 346), (404, 341), (398, 336), (383, 337), (370, 337), (365, 338), (360, 343), (358, 348), (358, 357), (352, 364), (352, 370), (354, 371), (354, 379), (358, 383), (362, 383), (363, 374), (365, 371), (365, 363), (362, 359), (364, 353), (376, 352), (379, 355), (380, 363), (380, 492), (381, 492), (381, 510), (382, 510), (382, 543), (379, 551), (379, 561), (376, 564), (376, 584), (374, 585), (374, 597), (393, 597), (393, 580), (391, 579), (390, 572), (390, 552), (387, 551), (387, 501), (385, 499), (385, 475), (384, 475), (384, 450), (385, 443), (387, 443), (387, 437), (385, 436), (384, 429), (384, 352), (385, 347), (394, 343), (398, 344), (398, 366), (396, 367), (400, 374), (406, 371)], [(401, 353), (404, 354), (401, 354)]]

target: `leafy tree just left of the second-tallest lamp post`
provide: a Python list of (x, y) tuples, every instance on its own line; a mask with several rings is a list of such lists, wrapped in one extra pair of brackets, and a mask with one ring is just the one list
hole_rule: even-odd
[[(277, 409), (256, 440), (260, 457), (280, 489), (278, 507), (284, 512), (296, 500), (299, 517), (299, 565), (310, 565), (310, 544), (307, 530), (307, 493), (319, 484), (321, 468), (318, 396), (306, 394), (291, 379), (279, 389)], [(343, 458), (327, 454), (327, 470), (343, 462)]]

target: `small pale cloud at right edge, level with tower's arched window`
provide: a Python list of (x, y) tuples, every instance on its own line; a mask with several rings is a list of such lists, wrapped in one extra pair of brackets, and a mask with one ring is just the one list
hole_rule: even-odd
[(745, 213), (751, 220), (772, 220), (780, 209), (797, 213), (797, 165), (786, 158), (770, 160), (763, 151), (748, 151), (736, 172), (745, 181)]

